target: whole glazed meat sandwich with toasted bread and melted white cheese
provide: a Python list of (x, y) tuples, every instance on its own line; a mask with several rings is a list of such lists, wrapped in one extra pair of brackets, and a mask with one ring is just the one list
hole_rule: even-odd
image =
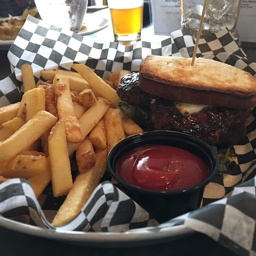
[(121, 109), (142, 113), (154, 130), (183, 132), (210, 145), (239, 143), (256, 105), (250, 73), (205, 58), (191, 66), (191, 58), (148, 55), (116, 92)]

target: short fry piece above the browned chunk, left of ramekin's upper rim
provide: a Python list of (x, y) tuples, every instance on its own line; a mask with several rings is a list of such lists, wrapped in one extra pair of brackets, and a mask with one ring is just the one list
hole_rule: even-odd
[(89, 134), (89, 140), (96, 149), (104, 149), (107, 146), (107, 138), (104, 120), (100, 119)]

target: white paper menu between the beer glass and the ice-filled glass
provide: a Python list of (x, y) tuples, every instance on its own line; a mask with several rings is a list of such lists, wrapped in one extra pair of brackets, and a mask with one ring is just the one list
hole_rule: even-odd
[(170, 35), (181, 28), (180, 0), (151, 0), (155, 35)]

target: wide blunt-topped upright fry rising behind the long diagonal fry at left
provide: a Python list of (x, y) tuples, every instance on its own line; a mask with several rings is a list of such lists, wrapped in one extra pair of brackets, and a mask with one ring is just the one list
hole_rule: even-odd
[(24, 93), (26, 102), (26, 122), (36, 113), (45, 110), (44, 88), (37, 87)]

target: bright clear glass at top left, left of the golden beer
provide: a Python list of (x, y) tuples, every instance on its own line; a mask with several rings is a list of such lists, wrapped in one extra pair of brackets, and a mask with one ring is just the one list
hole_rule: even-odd
[(79, 32), (88, 0), (35, 0), (42, 20), (52, 25)]

